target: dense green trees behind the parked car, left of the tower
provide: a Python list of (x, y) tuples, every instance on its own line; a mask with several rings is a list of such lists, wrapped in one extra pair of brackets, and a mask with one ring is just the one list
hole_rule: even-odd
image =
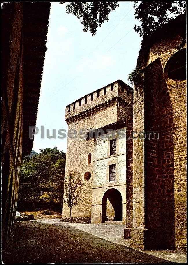
[[(34, 153), (34, 152), (32, 152)], [(38, 202), (58, 200), (62, 204), (66, 154), (57, 147), (40, 149), (21, 163), (19, 201), (21, 208), (35, 208)], [(45, 196), (44, 196), (45, 195)]]

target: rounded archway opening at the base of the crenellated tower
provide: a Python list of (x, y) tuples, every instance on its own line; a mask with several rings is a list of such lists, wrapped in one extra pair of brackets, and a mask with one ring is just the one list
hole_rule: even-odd
[(102, 223), (122, 221), (122, 196), (117, 189), (109, 189), (102, 198)]

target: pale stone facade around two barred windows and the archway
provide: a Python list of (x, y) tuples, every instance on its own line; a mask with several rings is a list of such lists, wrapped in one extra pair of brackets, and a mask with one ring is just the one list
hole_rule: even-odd
[[(119, 132), (124, 133), (120, 138)], [(116, 139), (116, 154), (110, 155), (110, 140)], [(109, 181), (109, 166), (116, 164), (116, 180)], [(126, 127), (99, 136), (95, 141), (93, 159), (92, 223), (101, 223), (102, 199), (109, 189), (117, 189), (122, 196), (123, 223), (126, 221)], [(112, 210), (107, 207), (107, 216)]]

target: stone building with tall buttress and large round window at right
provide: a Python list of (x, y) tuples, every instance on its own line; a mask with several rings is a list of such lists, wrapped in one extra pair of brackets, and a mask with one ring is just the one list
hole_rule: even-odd
[(133, 131), (159, 133), (133, 139), (130, 244), (140, 249), (186, 248), (185, 21), (180, 15), (143, 38), (137, 61)]

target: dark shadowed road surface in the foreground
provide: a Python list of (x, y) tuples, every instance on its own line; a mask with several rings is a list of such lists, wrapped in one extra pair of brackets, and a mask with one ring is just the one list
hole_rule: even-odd
[(23, 221), (4, 263), (170, 263), (68, 226)]

